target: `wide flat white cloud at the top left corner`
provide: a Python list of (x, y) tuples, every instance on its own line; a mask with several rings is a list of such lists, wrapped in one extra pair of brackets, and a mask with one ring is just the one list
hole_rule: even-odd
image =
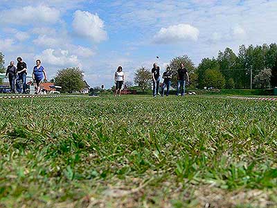
[(55, 24), (59, 19), (59, 10), (44, 5), (12, 8), (0, 14), (0, 24)]

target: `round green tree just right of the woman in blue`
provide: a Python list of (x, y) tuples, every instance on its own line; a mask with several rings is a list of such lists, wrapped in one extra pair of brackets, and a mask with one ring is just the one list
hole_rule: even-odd
[(62, 92), (79, 92), (84, 88), (83, 71), (79, 67), (71, 67), (57, 71), (55, 85), (62, 87)]

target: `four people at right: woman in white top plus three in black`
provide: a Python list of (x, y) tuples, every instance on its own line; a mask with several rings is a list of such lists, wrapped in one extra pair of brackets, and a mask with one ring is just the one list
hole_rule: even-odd
[[(153, 64), (153, 68), (151, 71), (152, 75), (152, 83), (153, 83), (153, 96), (156, 97), (159, 94), (159, 84), (160, 84), (160, 67), (157, 63)], [(172, 72), (170, 67), (166, 68), (166, 71), (163, 72), (163, 85), (161, 86), (161, 96), (164, 96), (166, 89), (166, 96), (169, 95), (171, 80), (172, 80)], [(114, 74), (114, 83), (116, 85), (116, 91), (114, 96), (121, 94), (122, 85), (124, 82), (124, 73), (122, 71), (122, 67), (118, 67), (116, 73)], [(188, 76), (188, 70), (185, 68), (184, 64), (180, 64), (180, 68), (177, 71), (177, 93), (176, 96), (181, 92), (181, 96), (185, 95), (186, 92), (186, 83), (190, 82), (190, 78)]]

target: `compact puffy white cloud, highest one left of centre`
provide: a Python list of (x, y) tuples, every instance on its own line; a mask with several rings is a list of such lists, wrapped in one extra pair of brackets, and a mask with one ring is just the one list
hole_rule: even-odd
[(74, 32), (80, 37), (86, 37), (93, 42), (107, 40), (104, 21), (97, 14), (77, 10), (74, 13), (72, 26)]

